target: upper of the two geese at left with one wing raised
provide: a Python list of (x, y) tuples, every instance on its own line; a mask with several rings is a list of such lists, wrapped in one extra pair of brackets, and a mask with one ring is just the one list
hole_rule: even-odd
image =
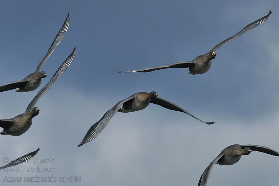
[(62, 25), (62, 28), (59, 30), (58, 34), (56, 35), (54, 41), (51, 44), (51, 47), (48, 49), (47, 54), (42, 59), (41, 63), (38, 65), (35, 72), (29, 74), (24, 79), (16, 82), (10, 82), (7, 84), (0, 85), (0, 92), (3, 91), (9, 91), (12, 89), (17, 88), (16, 92), (28, 92), (33, 91), (37, 89), (42, 81), (42, 78), (47, 77), (47, 74), (45, 71), (41, 71), (42, 66), (45, 64), (49, 56), (53, 53), (57, 45), (62, 41), (64, 38), (68, 28), (69, 28), (70, 18), (69, 13), (67, 15), (66, 20), (64, 21), (64, 24)]

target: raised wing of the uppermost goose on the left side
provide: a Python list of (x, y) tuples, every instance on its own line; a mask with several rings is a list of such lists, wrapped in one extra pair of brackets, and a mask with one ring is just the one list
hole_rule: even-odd
[(53, 51), (55, 50), (57, 45), (64, 38), (64, 36), (65, 36), (65, 34), (66, 34), (66, 32), (67, 32), (67, 30), (69, 28), (69, 24), (70, 24), (70, 17), (69, 17), (69, 13), (68, 13), (67, 18), (64, 21), (64, 24), (62, 25), (62, 28), (59, 30), (58, 34), (56, 35), (54, 41), (51, 44), (51, 47), (48, 49), (47, 54), (42, 59), (41, 63), (38, 65), (36, 71), (40, 72), (40, 70), (42, 69), (42, 66), (45, 64), (45, 62), (47, 61), (49, 56), (53, 53)]

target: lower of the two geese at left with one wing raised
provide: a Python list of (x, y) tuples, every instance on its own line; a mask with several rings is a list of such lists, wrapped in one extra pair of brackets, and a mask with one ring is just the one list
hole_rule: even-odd
[(59, 69), (55, 72), (47, 85), (44, 86), (33, 98), (24, 113), (17, 115), (11, 119), (0, 119), (0, 127), (3, 128), (0, 134), (19, 136), (30, 128), (30, 126), (32, 125), (32, 118), (37, 116), (40, 111), (38, 107), (34, 106), (42, 97), (42, 95), (44, 95), (50, 89), (50, 87), (56, 82), (56, 80), (60, 78), (66, 71), (66, 69), (70, 66), (75, 55), (75, 50), (76, 47), (73, 49), (73, 52), (64, 61), (64, 63), (59, 67)]

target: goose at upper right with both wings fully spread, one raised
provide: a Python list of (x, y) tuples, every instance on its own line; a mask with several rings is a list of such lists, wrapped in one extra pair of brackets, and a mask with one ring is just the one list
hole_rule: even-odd
[(168, 69), (168, 68), (189, 68), (189, 73), (188, 74), (203, 74), (206, 73), (211, 66), (211, 60), (213, 60), (216, 57), (215, 51), (222, 47), (224, 44), (227, 42), (230, 42), (239, 36), (241, 36), (243, 33), (254, 29), (255, 27), (259, 26), (262, 24), (264, 21), (266, 21), (271, 14), (271, 10), (269, 11), (268, 15), (262, 17), (261, 19), (258, 19), (254, 21), (253, 23), (248, 24), (246, 27), (244, 27), (242, 30), (240, 30), (237, 34), (233, 35), (232, 37), (229, 37), (228, 39), (220, 42), (218, 45), (213, 47), (209, 52), (203, 55), (197, 56), (194, 60), (191, 61), (184, 61), (184, 62), (176, 62), (176, 63), (171, 63), (171, 64), (166, 64), (163, 66), (159, 67), (152, 67), (152, 68), (146, 68), (146, 69), (138, 69), (138, 70), (131, 70), (131, 71), (120, 71), (117, 70), (117, 72), (114, 73), (121, 73), (121, 72), (151, 72), (154, 70), (160, 70), (160, 69)]

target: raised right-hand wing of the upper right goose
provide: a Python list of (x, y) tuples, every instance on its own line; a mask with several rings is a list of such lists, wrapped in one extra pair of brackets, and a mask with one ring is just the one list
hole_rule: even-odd
[(258, 19), (256, 21), (254, 21), (253, 23), (248, 24), (246, 27), (244, 27), (242, 30), (240, 30), (237, 34), (233, 35), (232, 37), (220, 42), (218, 45), (216, 45), (214, 48), (212, 48), (209, 52), (215, 52), (218, 48), (222, 47), (224, 44), (226, 44), (227, 42), (230, 42), (236, 38), (238, 38), (239, 36), (241, 36), (243, 33), (254, 29), (255, 27), (259, 26), (260, 24), (262, 24), (264, 21), (266, 21), (269, 17), (269, 15), (272, 13), (272, 11), (270, 10), (268, 15), (262, 17), (261, 19)]

